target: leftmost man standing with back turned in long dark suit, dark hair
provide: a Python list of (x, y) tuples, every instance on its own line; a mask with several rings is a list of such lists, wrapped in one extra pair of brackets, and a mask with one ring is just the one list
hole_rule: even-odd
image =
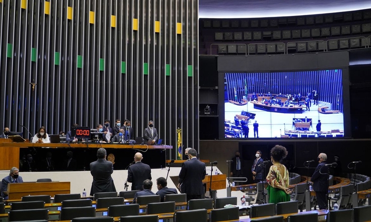
[(113, 173), (113, 164), (106, 160), (107, 151), (104, 148), (99, 148), (96, 152), (98, 158), (93, 163), (90, 163), (90, 173), (93, 176), (92, 188), (90, 195), (99, 192), (115, 192), (115, 184), (111, 174)]

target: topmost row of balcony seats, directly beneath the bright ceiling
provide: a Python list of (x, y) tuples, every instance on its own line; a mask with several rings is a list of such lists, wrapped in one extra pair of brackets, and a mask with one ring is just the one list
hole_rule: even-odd
[(252, 19), (200, 19), (204, 28), (265, 28), (287, 25), (315, 25), (334, 22), (350, 22), (371, 19), (371, 10), (331, 13), (323, 15), (307, 15), (281, 18)]

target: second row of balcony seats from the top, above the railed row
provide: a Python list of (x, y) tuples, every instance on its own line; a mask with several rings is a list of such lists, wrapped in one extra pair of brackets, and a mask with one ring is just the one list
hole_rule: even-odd
[(278, 31), (254, 31), (254, 32), (216, 32), (215, 41), (241, 41), (241, 40), (288, 40), (288, 39), (303, 39), (317, 38), (327, 36), (351, 35), (370, 33), (371, 23), (334, 26), (325, 28), (313, 29), (298, 29), (298, 30), (278, 30)]

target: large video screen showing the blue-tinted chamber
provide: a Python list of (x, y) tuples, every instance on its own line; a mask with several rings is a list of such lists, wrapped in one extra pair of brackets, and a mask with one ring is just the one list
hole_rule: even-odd
[(225, 73), (226, 138), (343, 137), (342, 69)]

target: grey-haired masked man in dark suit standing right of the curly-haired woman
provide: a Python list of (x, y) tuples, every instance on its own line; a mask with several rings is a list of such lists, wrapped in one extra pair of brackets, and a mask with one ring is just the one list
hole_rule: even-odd
[(320, 210), (325, 210), (327, 207), (326, 192), (328, 190), (327, 166), (325, 166), (327, 155), (325, 153), (320, 153), (317, 160), (319, 164), (311, 177), (311, 181), (313, 182), (313, 190), (316, 191), (318, 208), (320, 208)]

